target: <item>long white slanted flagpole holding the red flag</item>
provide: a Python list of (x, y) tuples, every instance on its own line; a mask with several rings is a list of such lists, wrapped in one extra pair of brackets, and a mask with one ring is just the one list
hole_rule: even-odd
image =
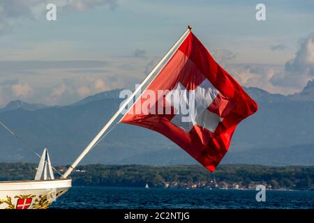
[[(163, 56), (163, 58), (156, 64), (156, 66), (151, 70), (151, 72), (149, 72), (149, 75), (147, 75), (147, 77), (145, 77), (142, 81), (142, 83), (137, 86), (137, 88), (133, 91), (133, 93), (124, 101), (123, 105), (121, 105), (118, 109), (118, 111), (112, 116), (112, 118), (110, 118), (110, 120), (103, 126), (103, 128), (100, 130), (100, 132), (98, 132), (98, 134), (96, 134), (96, 137), (94, 137), (93, 140), (91, 140), (91, 142), (89, 143), (89, 145), (84, 148), (84, 151), (82, 151), (82, 153), (79, 155), (79, 157), (77, 157), (77, 159), (73, 162), (73, 164), (70, 165), (70, 167), (66, 170), (66, 172), (61, 176), (61, 178), (67, 178), (70, 173), (73, 171), (73, 169), (75, 169), (75, 167), (77, 166), (77, 164), (80, 163), (80, 161), (85, 157), (85, 155), (87, 155), (87, 153), (89, 153), (89, 151), (91, 150), (91, 148), (94, 147), (94, 145), (97, 143), (97, 141), (100, 139), (100, 137), (103, 136), (103, 134), (107, 131), (108, 128), (110, 128), (110, 125), (112, 125), (112, 123), (117, 119), (117, 117), (119, 116), (119, 114), (121, 114), (121, 112), (124, 110), (124, 108), (126, 107), (126, 105), (128, 105), (128, 103), (133, 100), (134, 96), (140, 91), (140, 89), (142, 89), (142, 86), (144, 86), (144, 84), (147, 83), (147, 81), (154, 75), (154, 73), (156, 72), (156, 70), (158, 69), (158, 67), (165, 61), (165, 59), (167, 59), (167, 57), (170, 55), (170, 53), (177, 47), (177, 45), (179, 45), (179, 43), (181, 43), (182, 40), (184, 40), (186, 38), (186, 36), (188, 36), (188, 33), (190, 33), (190, 30), (192, 29), (192, 26), (188, 26), (188, 29), (186, 29), (186, 31), (184, 31), (184, 33), (181, 35), (181, 37), (177, 40), (176, 43), (174, 43), (174, 45), (172, 45), (172, 47), (170, 48), (170, 50)], [(158, 73), (156, 74), (158, 75)], [(155, 76), (156, 77), (156, 76)], [(154, 77), (154, 78), (155, 78)]]

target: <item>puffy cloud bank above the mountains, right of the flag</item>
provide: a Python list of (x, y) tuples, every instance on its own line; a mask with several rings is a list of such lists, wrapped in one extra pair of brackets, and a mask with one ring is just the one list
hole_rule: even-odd
[[(285, 46), (274, 45), (273, 50), (283, 50)], [(232, 52), (213, 52), (220, 63), (232, 59)], [(215, 56), (216, 54), (216, 56)], [(225, 55), (225, 56), (224, 56)], [(230, 55), (230, 56), (228, 56)], [(314, 78), (314, 33), (301, 40), (294, 58), (284, 67), (267, 64), (237, 64), (227, 70), (244, 86), (254, 86), (271, 93), (295, 93), (304, 88), (308, 80)]]

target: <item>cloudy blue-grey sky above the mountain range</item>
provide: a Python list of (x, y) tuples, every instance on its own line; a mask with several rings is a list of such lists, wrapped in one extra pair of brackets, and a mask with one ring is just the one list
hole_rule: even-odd
[(0, 0), (0, 107), (134, 89), (188, 24), (240, 84), (295, 93), (314, 78), (313, 12), (313, 0)]

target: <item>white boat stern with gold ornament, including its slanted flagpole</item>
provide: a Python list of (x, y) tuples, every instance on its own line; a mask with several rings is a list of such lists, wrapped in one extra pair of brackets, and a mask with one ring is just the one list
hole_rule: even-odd
[[(0, 209), (43, 209), (48, 208), (50, 204), (58, 197), (64, 194), (70, 187), (72, 179), (68, 178), (70, 173), (77, 167), (77, 164), (84, 158), (89, 151), (103, 139), (103, 137), (109, 133), (119, 122), (117, 118), (124, 111), (135, 95), (148, 86), (152, 80), (160, 72), (160, 68), (171, 58), (175, 50), (185, 40), (191, 31), (191, 26), (182, 34), (176, 43), (170, 48), (170, 50), (163, 56), (163, 58), (156, 64), (156, 66), (149, 72), (149, 75), (137, 86), (135, 91), (128, 97), (124, 104), (118, 109), (118, 111), (110, 118), (110, 120), (104, 125), (104, 127), (98, 132), (96, 137), (90, 142), (90, 144), (84, 148), (84, 151), (77, 157), (77, 159), (70, 165), (61, 178), (55, 179), (52, 173), (52, 165), (50, 158), (45, 148), (38, 170), (34, 180), (20, 180), (20, 181), (0, 181)], [(120, 119), (121, 120), (121, 119)], [(115, 124), (114, 124), (115, 123)], [(10, 129), (0, 122), (6, 130), (15, 135)], [(112, 126), (113, 125), (113, 126)], [(146, 185), (148, 187), (148, 185)]]

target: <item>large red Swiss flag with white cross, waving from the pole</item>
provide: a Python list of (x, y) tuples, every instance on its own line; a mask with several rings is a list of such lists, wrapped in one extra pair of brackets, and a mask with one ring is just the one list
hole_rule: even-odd
[[(147, 103), (148, 90), (167, 93)], [(160, 103), (163, 112), (155, 112)], [(188, 116), (176, 112), (184, 104), (192, 108)], [(143, 106), (146, 110), (139, 112)], [(165, 112), (168, 107), (170, 113)], [(213, 172), (237, 124), (256, 111), (256, 102), (190, 32), (121, 122), (160, 132)]]

